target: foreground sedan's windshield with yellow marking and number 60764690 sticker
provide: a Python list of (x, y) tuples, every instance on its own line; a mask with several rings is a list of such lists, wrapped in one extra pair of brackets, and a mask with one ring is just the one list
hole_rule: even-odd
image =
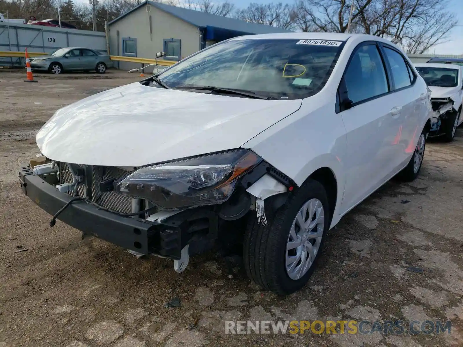
[(341, 41), (235, 39), (202, 50), (159, 74), (171, 88), (219, 87), (278, 99), (318, 93)]

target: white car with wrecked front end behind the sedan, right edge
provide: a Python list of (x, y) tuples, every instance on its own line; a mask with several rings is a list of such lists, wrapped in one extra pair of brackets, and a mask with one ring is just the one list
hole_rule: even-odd
[(433, 121), (430, 136), (452, 141), (463, 122), (463, 66), (452, 64), (415, 64), (431, 91)]

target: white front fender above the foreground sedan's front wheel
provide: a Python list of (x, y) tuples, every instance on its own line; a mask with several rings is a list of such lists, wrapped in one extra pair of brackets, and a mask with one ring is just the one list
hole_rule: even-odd
[[(335, 224), (339, 220), (338, 208), (345, 185), (341, 158), (344, 158), (347, 147), (346, 130), (341, 116), (334, 111), (334, 102), (332, 105), (326, 104), (327, 96), (319, 94), (304, 99), (298, 111), (272, 125), (242, 147), (252, 149), (298, 186), (317, 169), (331, 169), (338, 186), (333, 214)], [(322, 106), (314, 110), (313, 105)]]

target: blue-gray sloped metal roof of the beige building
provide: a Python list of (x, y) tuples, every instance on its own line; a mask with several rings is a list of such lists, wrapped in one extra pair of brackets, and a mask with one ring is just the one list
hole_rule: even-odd
[(159, 8), (160, 10), (170, 13), (171, 15), (184, 20), (185, 22), (194, 25), (198, 28), (206, 28), (207, 26), (230, 30), (230, 31), (238, 31), (244, 34), (267, 34), (267, 33), (275, 33), (275, 32), (291, 32), (290, 30), (275, 28), (269, 25), (262, 25), (256, 23), (248, 23), (243, 20), (233, 19), (223, 16), (218, 16), (211, 13), (200, 12), (195, 10), (190, 10), (188, 8), (182, 8), (172, 5), (166, 5), (161, 2), (153, 2), (153, 1), (144, 1), (140, 5), (132, 8), (130, 11), (125, 12), (121, 16), (116, 19), (113, 19), (109, 24), (113, 24), (114, 22), (124, 18), (127, 14), (137, 10), (139, 7), (144, 6), (145, 4), (149, 4), (150, 6), (154, 6)]

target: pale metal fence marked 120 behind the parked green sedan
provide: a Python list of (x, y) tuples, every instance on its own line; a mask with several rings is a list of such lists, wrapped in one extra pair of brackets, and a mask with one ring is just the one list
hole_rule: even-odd
[[(63, 47), (86, 47), (106, 52), (104, 32), (0, 22), (0, 51), (51, 53)], [(0, 57), (0, 65), (24, 65), (22, 58)]]

